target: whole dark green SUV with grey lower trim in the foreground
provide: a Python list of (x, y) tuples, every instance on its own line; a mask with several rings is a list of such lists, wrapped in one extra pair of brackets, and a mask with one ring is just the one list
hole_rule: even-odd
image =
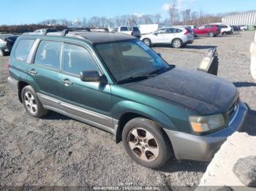
[(9, 74), (31, 116), (50, 109), (113, 133), (133, 160), (149, 168), (171, 155), (211, 160), (246, 115), (232, 83), (168, 65), (124, 34), (22, 35)]

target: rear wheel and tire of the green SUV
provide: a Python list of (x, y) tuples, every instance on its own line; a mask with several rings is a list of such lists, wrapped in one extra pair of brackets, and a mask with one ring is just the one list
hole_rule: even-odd
[(37, 94), (30, 85), (23, 87), (21, 90), (21, 98), (26, 112), (28, 112), (32, 117), (39, 118), (48, 113), (48, 110), (42, 106), (41, 102), (37, 98)]

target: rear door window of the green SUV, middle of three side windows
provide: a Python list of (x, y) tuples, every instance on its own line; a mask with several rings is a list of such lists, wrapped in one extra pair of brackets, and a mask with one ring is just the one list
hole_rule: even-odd
[(59, 69), (61, 47), (62, 42), (40, 42), (34, 63), (53, 69)]

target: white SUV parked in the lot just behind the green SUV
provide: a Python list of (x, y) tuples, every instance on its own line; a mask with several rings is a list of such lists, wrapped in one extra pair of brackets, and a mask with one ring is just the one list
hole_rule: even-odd
[(148, 47), (152, 44), (170, 44), (175, 48), (180, 48), (192, 44), (194, 34), (191, 28), (165, 27), (144, 35), (140, 39)]

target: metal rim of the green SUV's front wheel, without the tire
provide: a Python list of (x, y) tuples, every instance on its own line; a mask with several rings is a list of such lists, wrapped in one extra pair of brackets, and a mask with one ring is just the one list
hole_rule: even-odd
[(151, 162), (158, 157), (157, 140), (148, 130), (133, 128), (129, 131), (127, 139), (129, 148), (140, 160)]

